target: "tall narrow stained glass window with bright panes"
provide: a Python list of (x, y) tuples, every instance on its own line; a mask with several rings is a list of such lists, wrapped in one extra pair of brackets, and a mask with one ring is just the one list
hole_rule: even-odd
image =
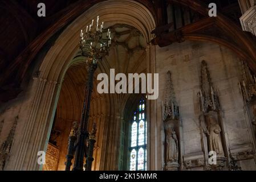
[(147, 121), (145, 100), (140, 100), (131, 122), (130, 171), (147, 170)]

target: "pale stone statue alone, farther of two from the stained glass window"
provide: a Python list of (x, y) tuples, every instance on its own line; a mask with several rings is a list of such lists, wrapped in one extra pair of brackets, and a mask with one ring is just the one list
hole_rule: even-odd
[(224, 156), (224, 150), (221, 142), (221, 127), (218, 125), (213, 115), (209, 115), (209, 148), (210, 151), (215, 151), (218, 156)]

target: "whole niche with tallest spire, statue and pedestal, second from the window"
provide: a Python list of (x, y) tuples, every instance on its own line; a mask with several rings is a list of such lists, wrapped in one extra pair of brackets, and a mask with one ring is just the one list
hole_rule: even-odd
[[(200, 103), (200, 123), (202, 145), (205, 152), (205, 165), (211, 169), (223, 169), (226, 162), (224, 150), (225, 138), (221, 120), (221, 106), (218, 92), (213, 88), (210, 74), (205, 61), (201, 63), (201, 90), (198, 93)], [(208, 153), (217, 154), (217, 165), (208, 166)]]

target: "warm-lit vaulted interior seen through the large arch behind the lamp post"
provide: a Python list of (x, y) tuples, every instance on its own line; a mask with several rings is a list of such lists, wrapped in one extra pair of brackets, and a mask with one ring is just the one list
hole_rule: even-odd
[[(124, 73), (127, 77), (128, 73), (140, 74), (147, 71), (146, 42), (143, 34), (137, 28), (127, 24), (112, 24), (108, 28), (113, 34), (113, 43), (109, 55), (103, 57), (94, 75), (90, 108), (88, 131), (91, 131), (92, 123), (96, 123), (97, 126), (93, 170), (117, 169), (119, 166), (119, 148), (123, 142), (119, 134), (125, 105), (127, 105), (128, 97), (131, 96), (131, 94), (124, 93), (99, 94), (97, 84), (100, 81), (97, 81), (97, 75), (107, 73), (109, 77), (110, 69), (115, 69), (116, 74)], [(72, 62), (73, 64), (65, 73), (60, 89), (54, 124), (47, 146), (46, 165), (43, 166), (43, 170), (62, 171), (65, 169), (68, 135), (72, 123), (79, 122), (82, 114), (84, 93), (87, 92), (86, 60), (78, 52)], [(113, 133), (117, 135), (113, 136)], [(115, 162), (111, 163), (111, 161)]]

